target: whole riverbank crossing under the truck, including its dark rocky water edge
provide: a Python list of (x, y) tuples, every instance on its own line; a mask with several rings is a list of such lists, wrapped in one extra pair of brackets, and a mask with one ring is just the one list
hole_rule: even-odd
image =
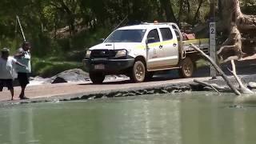
[[(254, 61), (240, 62), (237, 66), (239, 77), (242, 82), (256, 82), (256, 65)], [(224, 70), (229, 65), (222, 66)], [(226, 72), (228, 74), (228, 72)], [(72, 100), (85, 100), (94, 98), (115, 98), (138, 96), (145, 94), (170, 94), (191, 91), (210, 90), (206, 87), (199, 86), (194, 79), (200, 81), (215, 83), (218, 86), (226, 86), (226, 82), (218, 77), (211, 80), (209, 68), (199, 69), (194, 73), (194, 78), (178, 78), (177, 71), (171, 71), (166, 74), (154, 76), (150, 82), (130, 83), (129, 78), (107, 78), (102, 85), (93, 85), (90, 81), (86, 82), (68, 82), (68, 83), (40, 83), (40, 85), (31, 85), (26, 89), (26, 97), (29, 100), (19, 100), (19, 87), (14, 88), (14, 101), (10, 101), (10, 92), (4, 90), (0, 93), (0, 106), (11, 106), (21, 103), (33, 102), (61, 102)], [(238, 86), (233, 76), (229, 76), (232, 83)], [(227, 91), (230, 92), (230, 91)]]

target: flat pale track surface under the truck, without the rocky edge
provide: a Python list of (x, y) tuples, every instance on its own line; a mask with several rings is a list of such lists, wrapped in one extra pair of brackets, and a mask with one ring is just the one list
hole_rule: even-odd
[[(157, 79), (157, 78), (155, 78)], [(180, 82), (192, 82), (194, 78), (184, 78), (184, 79), (171, 79), (171, 80), (155, 80), (152, 82), (143, 83), (129, 83), (128, 81), (122, 82), (106, 82), (102, 85), (93, 85), (91, 83), (62, 83), (62, 84), (46, 84), (40, 86), (28, 86), (26, 88), (26, 97), (28, 98), (50, 98), (54, 96), (65, 96), (65, 95), (84, 95), (93, 94), (99, 91), (106, 90), (123, 90), (123, 89), (133, 89), (138, 87), (148, 87), (148, 86), (160, 86), (165, 84), (174, 84)], [(207, 78), (200, 78), (207, 79)], [(20, 92), (19, 87), (14, 88), (14, 100), (18, 100), (18, 94)], [(0, 93), (0, 101), (10, 100), (10, 91), (3, 90)]]

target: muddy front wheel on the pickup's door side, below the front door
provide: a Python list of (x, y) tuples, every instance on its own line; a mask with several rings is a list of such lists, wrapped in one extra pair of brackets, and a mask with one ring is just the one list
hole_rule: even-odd
[(136, 61), (130, 72), (132, 82), (143, 82), (146, 76), (146, 68), (142, 61)]

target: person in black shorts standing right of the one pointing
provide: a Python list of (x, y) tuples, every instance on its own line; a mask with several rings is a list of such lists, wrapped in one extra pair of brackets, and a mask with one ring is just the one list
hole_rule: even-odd
[(18, 73), (18, 82), (22, 87), (21, 94), (19, 94), (19, 98), (21, 99), (29, 99), (25, 97), (25, 89), (26, 85), (30, 83), (29, 81), (29, 74), (31, 73), (31, 64), (30, 64), (30, 43), (23, 42), (22, 47), (18, 49), (18, 53), (15, 54), (14, 58), (17, 59), (17, 62), (22, 63), (26, 66), (26, 68), (22, 66), (17, 66), (17, 73)]

